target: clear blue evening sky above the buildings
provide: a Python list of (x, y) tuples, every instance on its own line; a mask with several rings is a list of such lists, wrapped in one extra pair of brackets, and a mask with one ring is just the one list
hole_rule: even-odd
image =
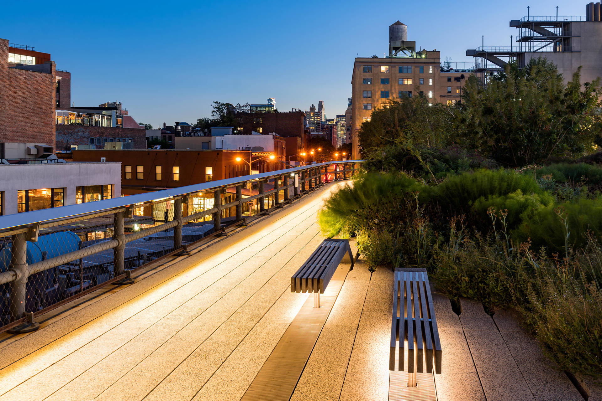
[(7, 2), (0, 37), (48, 52), (72, 73), (76, 106), (120, 101), (138, 122), (208, 117), (211, 102), (309, 109), (328, 118), (351, 96), (353, 58), (383, 56), (388, 26), (471, 62), (466, 49), (509, 46), (510, 19), (585, 15), (586, 1), (109, 1)]

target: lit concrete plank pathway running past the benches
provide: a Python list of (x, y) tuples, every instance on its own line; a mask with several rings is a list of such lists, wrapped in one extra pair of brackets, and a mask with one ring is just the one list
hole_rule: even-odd
[[(308, 299), (290, 292), (290, 277), (323, 239), (317, 212), (340, 185), (145, 266), (131, 286), (63, 305), (37, 319), (37, 332), (0, 334), (0, 401), (240, 400)], [(391, 399), (389, 383), (403, 385), (388, 370), (392, 284), (389, 269), (370, 274), (356, 262), (291, 400)], [(439, 401), (582, 400), (511, 313), (492, 318), (462, 300), (458, 316), (447, 298), (434, 293), (433, 302)]]

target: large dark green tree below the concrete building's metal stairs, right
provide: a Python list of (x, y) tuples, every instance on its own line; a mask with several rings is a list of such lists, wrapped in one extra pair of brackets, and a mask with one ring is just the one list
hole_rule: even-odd
[(487, 85), (471, 76), (456, 125), (464, 147), (508, 167), (591, 153), (602, 142), (599, 80), (582, 90), (580, 69), (565, 85), (551, 66), (538, 60), (518, 70), (511, 64)]

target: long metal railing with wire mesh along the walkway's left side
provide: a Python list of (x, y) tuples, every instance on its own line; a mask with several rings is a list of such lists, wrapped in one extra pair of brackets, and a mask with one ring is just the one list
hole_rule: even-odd
[(0, 217), (0, 332), (265, 215), (362, 161), (326, 162)]

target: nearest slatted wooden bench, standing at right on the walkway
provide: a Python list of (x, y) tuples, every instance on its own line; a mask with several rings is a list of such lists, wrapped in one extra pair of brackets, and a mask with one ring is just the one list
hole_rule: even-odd
[(417, 372), (432, 373), (434, 367), (441, 373), (441, 342), (426, 269), (395, 269), (389, 370), (403, 372), (405, 350), (409, 387), (416, 387)]

